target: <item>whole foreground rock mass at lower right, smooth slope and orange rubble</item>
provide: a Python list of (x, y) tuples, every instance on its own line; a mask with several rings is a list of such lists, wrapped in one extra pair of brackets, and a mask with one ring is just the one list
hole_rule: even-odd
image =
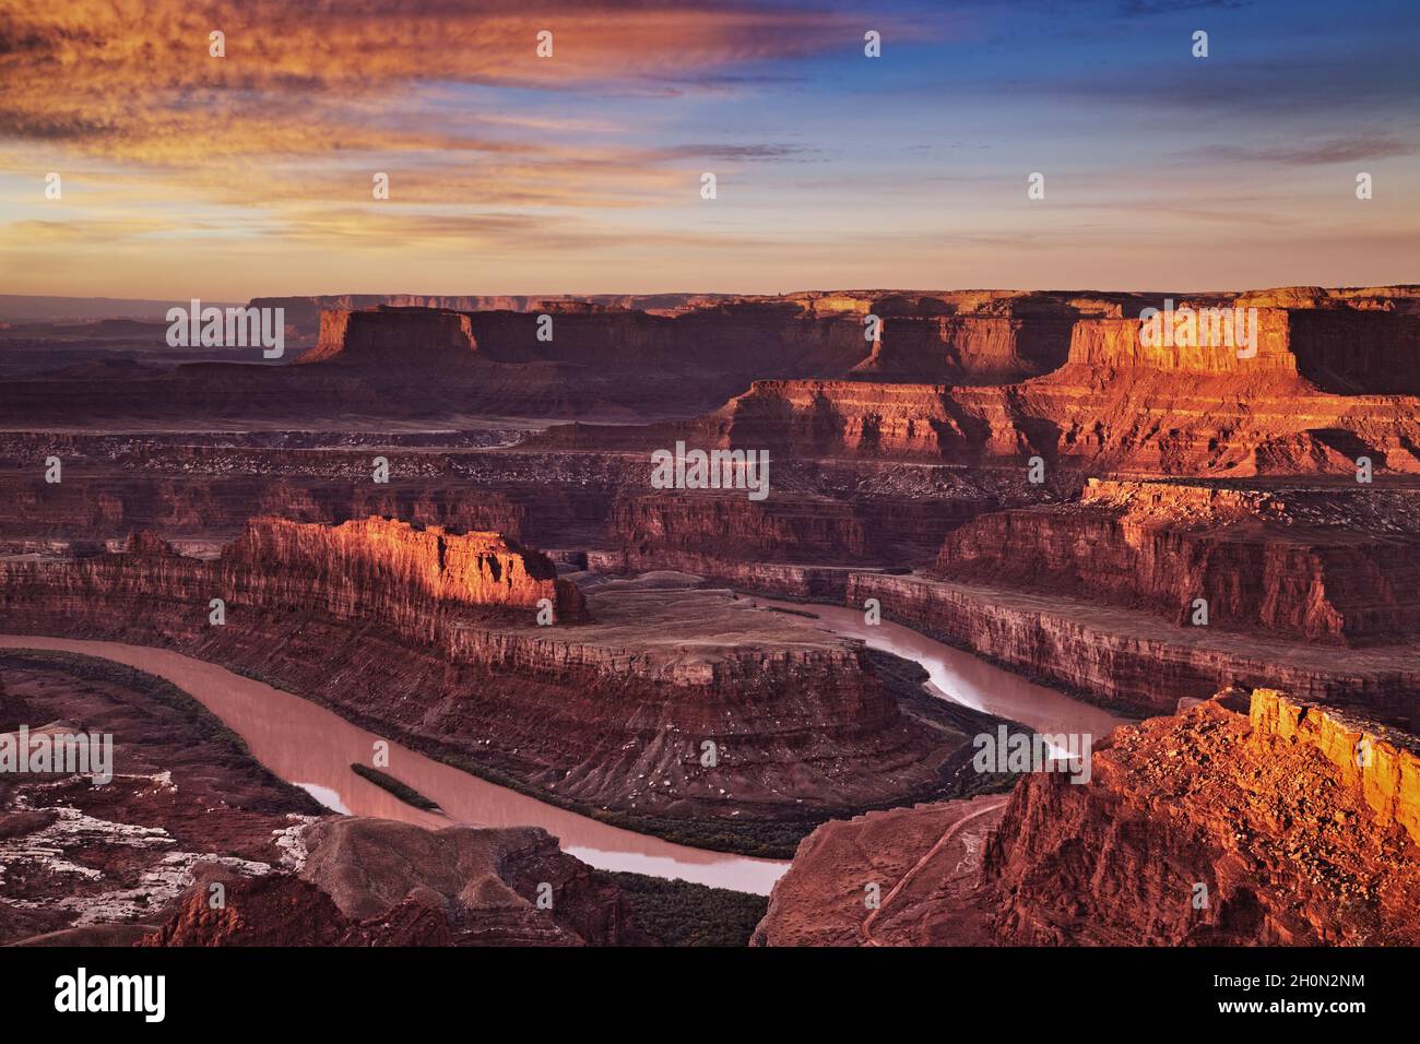
[[(1085, 784), (1031, 773), (1004, 803), (825, 824), (799, 847), (755, 940), (1413, 946), (1420, 937), (1411, 736), (1275, 690), (1230, 692), (1118, 729), (1096, 743), (1092, 768)], [(889, 896), (876, 913), (865, 883)]]

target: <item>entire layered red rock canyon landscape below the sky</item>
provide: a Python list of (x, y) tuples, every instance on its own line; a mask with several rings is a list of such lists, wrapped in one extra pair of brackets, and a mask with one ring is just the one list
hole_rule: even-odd
[[(1255, 308), (1255, 345), (1147, 342), (1164, 297)], [(1420, 288), (253, 304), (288, 358), (0, 381), (9, 642), (182, 653), (559, 814), (792, 858), (758, 945), (1416, 942)], [(653, 489), (677, 442), (768, 452), (770, 496)], [(1003, 724), (1092, 734), (1089, 781), (977, 770)], [(246, 834), (183, 842), (270, 868), (222, 864), (237, 913), (179, 874), (124, 942), (670, 937), (561, 828), (263, 778)], [(0, 830), (68, 815), (33, 798)], [(273, 852), (288, 815), (334, 869)], [(74, 930), (6, 889), (7, 937)]]

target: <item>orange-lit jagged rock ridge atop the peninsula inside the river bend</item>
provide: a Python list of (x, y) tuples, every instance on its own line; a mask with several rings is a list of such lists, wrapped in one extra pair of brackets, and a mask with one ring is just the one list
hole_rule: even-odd
[[(266, 597), (312, 597), (337, 615), (373, 604), (427, 604), (470, 609), (525, 609), (547, 599), (558, 622), (586, 618), (581, 591), (557, 578), (557, 567), (497, 533), (446, 533), (393, 518), (361, 518), (341, 526), (254, 518), (223, 548), (224, 572), (273, 570), (277, 588)], [(275, 577), (280, 580), (275, 580)], [(288, 587), (290, 589), (284, 589)]]

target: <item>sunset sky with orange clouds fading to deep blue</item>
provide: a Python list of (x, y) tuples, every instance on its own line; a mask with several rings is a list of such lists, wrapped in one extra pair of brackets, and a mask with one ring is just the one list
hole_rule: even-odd
[(1420, 283), (1417, 192), (1416, 0), (0, 7), (10, 294)]

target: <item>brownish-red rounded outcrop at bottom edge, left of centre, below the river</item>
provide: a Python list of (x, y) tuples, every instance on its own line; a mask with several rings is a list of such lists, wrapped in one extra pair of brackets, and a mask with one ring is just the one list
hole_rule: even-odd
[[(332, 818), (304, 831), (300, 874), (192, 891), (142, 946), (655, 945), (615, 885), (537, 827), (429, 831)], [(207, 882), (203, 882), (207, 885)], [(541, 899), (541, 903), (540, 903)]]

